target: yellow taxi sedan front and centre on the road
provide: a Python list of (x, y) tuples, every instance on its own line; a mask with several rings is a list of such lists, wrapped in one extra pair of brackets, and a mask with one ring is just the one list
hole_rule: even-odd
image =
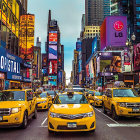
[(48, 131), (73, 132), (96, 129), (93, 107), (83, 93), (65, 92), (56, 95), (48, 112)]

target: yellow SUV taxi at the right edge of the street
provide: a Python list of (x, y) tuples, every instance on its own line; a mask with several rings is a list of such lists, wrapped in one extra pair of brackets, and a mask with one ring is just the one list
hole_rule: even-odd
[(140, 116), (140, 97), (131, 88), (107, 88), (103, 95), (103, 112), (110, 111), (112, 118)]

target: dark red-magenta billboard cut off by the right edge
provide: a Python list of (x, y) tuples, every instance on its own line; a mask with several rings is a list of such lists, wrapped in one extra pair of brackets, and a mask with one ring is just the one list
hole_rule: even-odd
[(134, 71), (140, 70), (140, 43), (134, 46)]

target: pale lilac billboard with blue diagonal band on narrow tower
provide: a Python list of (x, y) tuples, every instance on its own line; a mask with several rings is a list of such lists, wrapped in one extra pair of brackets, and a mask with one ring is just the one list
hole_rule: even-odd
[(57, 59), (57, 45), (49, 45), (49, 59)]

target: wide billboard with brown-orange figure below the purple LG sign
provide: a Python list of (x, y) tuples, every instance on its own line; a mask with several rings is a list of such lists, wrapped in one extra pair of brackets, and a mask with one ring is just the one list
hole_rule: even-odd
[(121, 52), (100, 52), (97, 58), (97, 73), (122, 72)]

